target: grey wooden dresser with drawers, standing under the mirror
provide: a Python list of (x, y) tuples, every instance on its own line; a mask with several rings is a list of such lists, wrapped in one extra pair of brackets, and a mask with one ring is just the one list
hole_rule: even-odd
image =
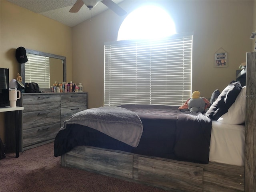
[[(87, 109), (87, 93), (24, 93), (17, 101), (20, 112), (20, 152), (53, 142), (64, 121)], [(7, 127), (15, 127), (12, 112), (6, 115)], [(6, 146), (14, 149), (14, 129), (6, 130)]]

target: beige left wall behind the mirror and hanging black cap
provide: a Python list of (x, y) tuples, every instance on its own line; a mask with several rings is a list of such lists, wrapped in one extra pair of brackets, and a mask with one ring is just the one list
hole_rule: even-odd
[[(10, 79), (20, 72), (15, 58), (16, 48), (23, 46), (51, 54), (66, 56), (67, 80), (72, 80), (72, 30), (52, 19), (0, 1), (0, 66), (9, 68)], [(22, 74), (21, 74), (22, 76)], [(1, 138), (4, 140), (4, 113), (1, 118)]]

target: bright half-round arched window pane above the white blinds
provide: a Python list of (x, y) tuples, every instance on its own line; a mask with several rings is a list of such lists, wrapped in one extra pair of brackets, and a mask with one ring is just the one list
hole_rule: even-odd
[(163, 38), (175, 33), (175, 24), (165, 10), (158, 6), (143, 6), (124, 19), (117, 40)]

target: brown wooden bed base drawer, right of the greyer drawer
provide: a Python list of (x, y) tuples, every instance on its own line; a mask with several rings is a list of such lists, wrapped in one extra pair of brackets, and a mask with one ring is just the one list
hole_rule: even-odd
[(182, 191), (202, 192), (203, 168), (139, 157), (139, 180)]

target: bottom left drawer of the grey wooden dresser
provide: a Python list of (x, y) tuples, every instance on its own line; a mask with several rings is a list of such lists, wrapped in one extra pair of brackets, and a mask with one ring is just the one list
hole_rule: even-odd
[(23, 130), (23, 148), (54, 139), (60, 130), (60, 123)]

